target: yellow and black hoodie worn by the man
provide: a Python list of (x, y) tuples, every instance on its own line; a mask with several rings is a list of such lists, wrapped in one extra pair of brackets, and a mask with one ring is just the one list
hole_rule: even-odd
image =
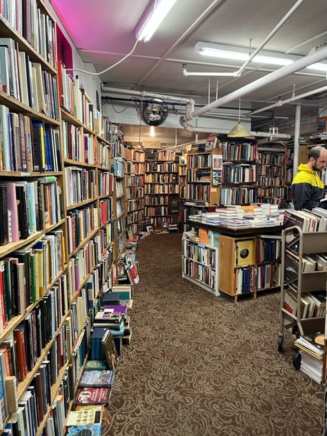
[(299, 164), (292, 182), (292, 201), (295, 210), (312, 210), (324, 198), (324, 184), (319, 173), (306, 164)]

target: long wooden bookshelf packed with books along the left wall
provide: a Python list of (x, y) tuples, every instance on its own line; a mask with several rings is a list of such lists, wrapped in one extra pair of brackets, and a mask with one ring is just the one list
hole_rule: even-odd
[[(17, 377), (12, 419), (34, 413), (41, 435), (59, 397), (66, 415), (72, 407), (97, 297), (116, 281), (117, 212), (112, 144), (95, 129), (78, 79), (57, 62), (50, 11), (35, 4), (24, 28), (0, 15), (0, 384), (6, 395), (5, 377)], [(7, 402), (0, 430), (9, 421)]]

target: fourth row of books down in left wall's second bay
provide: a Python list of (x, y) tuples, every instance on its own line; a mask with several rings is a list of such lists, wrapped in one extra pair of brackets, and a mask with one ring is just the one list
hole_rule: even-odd
[[(97, 205), (92, 204), (79, 210), (70, 210), (67, 215), (68, 252), (71, 253), (98, 228), (99, 214)], [(102, 219), (102, 208), (100, 208), (100, 216)]]

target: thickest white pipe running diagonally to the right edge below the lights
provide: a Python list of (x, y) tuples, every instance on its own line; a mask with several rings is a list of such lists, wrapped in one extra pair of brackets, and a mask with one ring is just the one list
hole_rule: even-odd
[(209, 110), (219, 108), (220, 106), (223, 106), (224, 104), (229, 103), (230, 101), (239, 99), (240, 97), (243, 97), (249, 92), (262, 88), (262, 86), (269, 85), (270, 83), (273, 83), (278, 79), (282, 79), (283, 77), (293, 74), (293, 72), (299, 71), (302, 68), (306, 68), (307, 66), (312, 65), (313, 63), (322, 61), (323, 59), (326, 59), (326, 57), (327, 57), (327, 48), (319, 50), (318, 52), (315, 52), (313, 54), (308, 54), (308, 56), (305, 56), (301, 59), (297, 59), (297, 61), (290, 63), (290, 65), (279, 68), (279, 70), (270, 72), (270, 74), (261, 77), (260, 79), (257, 79), (252, 83), (248, 83), (248, 85), (243, 86), (242, 88), (239, 88), (236, 91), (230, 92), (230, 94), (226, 95), (225, 97), (221, 97), (220, 99), (214, 101), (213, 103), (210, 103), (210, 108), (207, 105), (197, 110), (192, 110), (190, 113), (186, 113), (186, 115), (181, 117), (180, 123), (183, 126), (184, 123), (186, 123), (190, 119), (199, 117), (199, 115), (209, 112)]

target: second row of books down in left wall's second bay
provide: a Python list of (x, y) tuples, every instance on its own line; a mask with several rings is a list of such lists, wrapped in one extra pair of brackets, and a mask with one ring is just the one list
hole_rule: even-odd
[(86, 164), (96, 164), (97, 139), (83, 128), (62, 121), (63, 157)]

